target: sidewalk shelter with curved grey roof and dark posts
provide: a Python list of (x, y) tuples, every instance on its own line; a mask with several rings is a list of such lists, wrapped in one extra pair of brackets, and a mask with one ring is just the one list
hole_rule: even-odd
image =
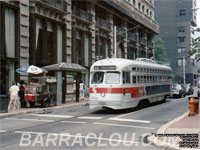
[(81, 81), (81, 74), (87, 72), (87, 69), (83, 66), (75, 63), (61, 62), (53, 65), (44, 66), (47, 71), (54, 71), (56, 73), (56, 104), (61, 105), (65, 103), (66, 94), (66, 73), (75, 72), (76, 79), (76, 102), (79, 102), (79, 83)]

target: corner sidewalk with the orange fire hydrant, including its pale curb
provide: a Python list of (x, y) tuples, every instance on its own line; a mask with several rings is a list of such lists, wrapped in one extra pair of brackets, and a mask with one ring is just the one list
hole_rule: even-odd
[(200, 150), (200, 113), (190, 117), (188, 114), (162, 126), (155, 135), (148, 137), (148, 141), (170, 150)]

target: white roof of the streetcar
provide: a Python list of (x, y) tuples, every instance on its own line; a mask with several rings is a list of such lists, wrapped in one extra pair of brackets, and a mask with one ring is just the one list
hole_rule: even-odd
[(129, 59), (123, 59), (123, 58), (108, 58), (108, 59), (102, 59), (99, 61), (96, 61), (92, 67), (91, 70), (94, 70), (94, 66), (117, 66), (118, 69), (123, 69), (125, 67), (152, 67), (152, 68), (158, 68), (158, 69), (167, 69), (171, 70), (170, 67), (165, 65), (160, 65), (153, 62), (146, 62), (142, 60), (129, 60)]

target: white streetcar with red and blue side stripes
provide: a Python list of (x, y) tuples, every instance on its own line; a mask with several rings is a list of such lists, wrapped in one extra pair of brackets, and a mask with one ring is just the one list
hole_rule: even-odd
[(126, 109), (164, 101), (171, 94), (171, 68), (138, 58), (108, 58), (90, 70), (90, 108)]

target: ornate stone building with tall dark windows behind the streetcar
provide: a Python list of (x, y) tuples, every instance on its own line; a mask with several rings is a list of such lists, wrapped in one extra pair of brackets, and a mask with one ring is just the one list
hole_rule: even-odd
[[(89, 70), (96, 60), (112, 57), (114, 26), (117, 57), (151, 58), (159, 30), (154, 9), (154, 0), (0, 1), (1, 94), (13, 80), (27, 78), (16, 68), (69, 62)], [(69, 92), (73, 76), (67, 77)], [(88, 83), (88, 73), (83, 79)]]

